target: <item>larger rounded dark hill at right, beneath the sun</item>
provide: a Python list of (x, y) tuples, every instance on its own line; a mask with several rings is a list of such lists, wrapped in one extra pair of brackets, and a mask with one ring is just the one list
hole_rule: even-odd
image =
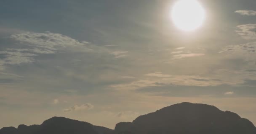
[(119, 123), (115, 134), (256, 134), (256, 128), (236, 113), (205, 104), (180, 103)]

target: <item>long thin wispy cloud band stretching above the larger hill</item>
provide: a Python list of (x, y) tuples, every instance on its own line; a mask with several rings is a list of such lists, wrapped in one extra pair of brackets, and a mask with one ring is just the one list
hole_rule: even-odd
[(125, 84), (111, 85), (116, 90), (138, 90), (146, 87), (161, 87), (165, 85), (182, 85), (182, 86), (218, 86), (231, 84), (208, 77), (198, 75), (165, 75), (160, 72), (146, 74), (145, 78)]

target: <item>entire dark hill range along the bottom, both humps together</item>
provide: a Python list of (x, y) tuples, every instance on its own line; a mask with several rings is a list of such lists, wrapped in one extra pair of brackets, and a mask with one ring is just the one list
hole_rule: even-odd
[(180, 103), (120, 122), (115, 130), (88, 122), (53, 117), (41, 125), (5, 127), (0, 134), (256, 134), (256, 127), (236, 113), (206, 104)]

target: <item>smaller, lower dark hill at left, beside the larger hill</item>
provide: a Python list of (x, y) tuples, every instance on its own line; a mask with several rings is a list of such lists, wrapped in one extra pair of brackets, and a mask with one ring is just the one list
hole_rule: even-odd
[(17, 129), (6, 127), (0, 130), (0, 134), (112, 134), (112, 131), (83, 121), (53, 117), (41, 125), (19, 125)]

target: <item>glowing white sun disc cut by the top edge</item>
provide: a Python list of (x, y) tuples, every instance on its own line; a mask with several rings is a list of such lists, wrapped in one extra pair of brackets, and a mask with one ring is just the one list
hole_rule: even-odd
[(192, 31), (202, 26), (205, 10), (197, 0), (179, 0), (171, 11), (173, 23), (183, 31)]

